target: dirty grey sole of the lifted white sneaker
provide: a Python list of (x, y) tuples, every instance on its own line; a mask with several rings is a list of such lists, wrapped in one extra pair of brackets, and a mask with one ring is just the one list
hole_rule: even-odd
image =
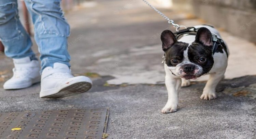
[(91, 87), (92, 87), (92, 84), (90, 82), (77, 82), (77, 83), (71, 84), (65, 88), (62, 88), (59, 92), (57, 92), (55, 94), (44, 96), (41, 98), (53, 98), (53, 99), (64, 98), (64, 97), (68, 97), (68, 96), (85, 93), (88, 90), (90, 90)]

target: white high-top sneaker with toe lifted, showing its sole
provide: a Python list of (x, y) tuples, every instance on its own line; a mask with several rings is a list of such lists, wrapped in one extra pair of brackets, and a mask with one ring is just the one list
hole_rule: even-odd
[(42, 73), (40, 98), (63, 98), (90, 90), (92, 81), (85, 76), (74, 77), (66, 64), (54, 63)]

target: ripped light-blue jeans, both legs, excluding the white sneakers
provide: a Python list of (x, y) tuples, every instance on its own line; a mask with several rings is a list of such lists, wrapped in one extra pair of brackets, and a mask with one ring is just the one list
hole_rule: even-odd
[[(67, 51), (70, 27), (60, 8), (61, 0), (25, 0), (34, 24), (34, 38), (41, 54), (41, 72), (55, 62), (70, 66)], [(30, 36), (20, 23), (17, 0), (0, 0), (0, 40), (5, 55), (36, 59)]]

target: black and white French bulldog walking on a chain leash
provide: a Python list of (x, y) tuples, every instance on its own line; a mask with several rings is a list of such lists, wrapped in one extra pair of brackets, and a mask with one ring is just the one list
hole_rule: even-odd
[[(181, 86), (190, 85), (189, 79), (210, 74), (200, 98), (211, 100), (216, 98), (215, 88), (224, 78), (228, 60), (225, 42), (211, 26), (194, 27), (197, 31), (194, 35), (184, 34), (179, 40), (170, 30), (161, 34), (162, 49), (165, 52), (165, 84), (168, 91), (168, 101), (162, 108), (162, 113), (176, 112), (179, 90)], [(213, 36), (221, 40), (222, 45), (216, 45)]]

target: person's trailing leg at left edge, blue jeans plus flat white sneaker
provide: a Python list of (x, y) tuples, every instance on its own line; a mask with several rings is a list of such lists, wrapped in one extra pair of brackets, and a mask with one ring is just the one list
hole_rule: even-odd
[(39, 62), (31, 49), (32, 42), (19, 21), (17, 0), (0, 0), (0, 40), (5, 55), (13, 58), (13, 77), (3, 88), (20, 89), (40, 82)]

